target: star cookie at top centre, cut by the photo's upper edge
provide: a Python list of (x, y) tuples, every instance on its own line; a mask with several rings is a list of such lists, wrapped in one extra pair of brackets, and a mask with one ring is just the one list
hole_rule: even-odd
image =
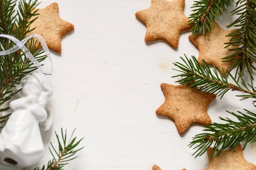
[(147, 27), (145, 42), (165, 40), (172, 48), (178, 47), (180, 32), (192, 28), (184, 14), (185, 0), (151, 0), (148, 9), (135, 16)]

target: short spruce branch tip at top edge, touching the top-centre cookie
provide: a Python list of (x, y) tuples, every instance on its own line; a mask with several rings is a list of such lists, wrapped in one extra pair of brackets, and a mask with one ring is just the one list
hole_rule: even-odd
[(210, 32), (215, 27), (213, 20), (223, 15), (226, 8), (231, 5), (233, 0), (200, 0), (195, 1), (191, 8), (192, 14), (189, 16), (189, 23), (194, 24), (191, 30), (192, 34), (198, 34), (202, 31), (206, 35), (206, 31)]

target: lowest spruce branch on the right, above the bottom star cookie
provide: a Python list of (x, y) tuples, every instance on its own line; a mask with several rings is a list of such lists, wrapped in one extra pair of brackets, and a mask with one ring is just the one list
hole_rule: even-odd
[(245, 141), (244, 148), (249, 142), (256, 142), (256, 113), (245, 111), (247, 114), (239, 111), (239, 114), (227, 111), (236, 116), (239, 122), (220, 117), (221, 120), (226, 122), (225, 124), (212, 123), (209, 126), (204, 126), (206, 128), (204, 131), (207, 131), (207, 133), (196, 135), (189, 144), (190, 147), (196, 149), (193, 155), (196, 154), (195, 157), (201, 156), (212, 144), (214, 144), (214, 150), (212, 150), (210, 156), (214, 157), (221, 154), (221, 151), (226, 148), (235, 148), (242, 141)]

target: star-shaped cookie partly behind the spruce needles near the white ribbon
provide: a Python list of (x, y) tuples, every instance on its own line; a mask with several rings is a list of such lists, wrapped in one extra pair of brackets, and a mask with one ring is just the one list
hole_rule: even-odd
[[(35, 10), (37, 9), (35, 8)], [(30, 26), (30, 28), (35, 28), (35, 30), (29, 32), (26, 36), (39, 34), (44, 37), (48, 48), (61, 53), (61, 37), (74, 29), (73, 24), (59, 17), (58, 3), (52, 3), (46, 8), (39, 9), (37, 13), (39, 15), (35, 17), (38, 17), (38, 19)], [(31, 20), (35, 19), (35, 17), (32, 17)], [(37, 42), (38, 44), (39, 41)]]

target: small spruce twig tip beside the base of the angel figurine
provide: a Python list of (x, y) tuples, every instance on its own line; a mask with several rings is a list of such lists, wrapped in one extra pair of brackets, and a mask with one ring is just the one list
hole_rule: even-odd
[(50, 160), (48, 164), (44, 165), (42, 168), (36, 167), (34, 170), (63, 170), (64, 165), (69, 164), (70, 161), (76, 159), (77, 156), (75, 156), (75, 154), (84, 147), (81, 147), (77, 150), (75, 149), (83, 139), (82, 138), (76, 142), (76, 137), (73, 138), (75, 130), (73, 131), (70, 140), (67, 141), (67, 130), (64, 134), (61, 128), (62, 142), (57, 133), (55, 132), (56, 138), (58, 140), (58, 152), (53, 146), (52, 142), (50, 142), (51, 147), (49, 147), (49, 150), (52, 154), (53, 159)]

